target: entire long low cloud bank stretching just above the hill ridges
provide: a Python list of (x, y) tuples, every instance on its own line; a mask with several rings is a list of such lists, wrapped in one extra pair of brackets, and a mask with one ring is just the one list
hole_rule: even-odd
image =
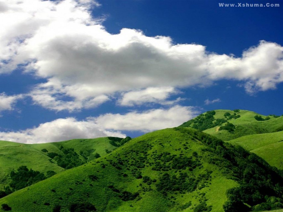
[(48, 143), (75, 138), (126, 137), (121, 131), (149, 132), (176, 127), (193, 118), (198, 111), (189, 106), (173, 106), (169, 109), (152, 109), (126, 114), (104, 114), (84, 121), (75, 118), (59, 118), (39, 124), (38, 127), (20, 131), (0, 132), (0, 140), (19, 143)]

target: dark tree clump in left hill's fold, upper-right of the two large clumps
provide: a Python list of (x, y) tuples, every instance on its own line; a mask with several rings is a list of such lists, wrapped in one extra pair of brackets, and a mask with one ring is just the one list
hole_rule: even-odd
[(55, 160), (57, 165), (62, 168), (70, 169), (80, 166), (86, 162), (79, 157), (74, 148), (64, 148), (63, 146), (60, 146), (59, 149), (62, 151), (62, 155), (55, 152), (49, 152), (47, 155), (49, 158)]

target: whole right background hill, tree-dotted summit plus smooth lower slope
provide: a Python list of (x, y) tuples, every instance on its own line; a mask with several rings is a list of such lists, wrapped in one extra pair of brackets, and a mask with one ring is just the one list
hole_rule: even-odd
[(181, 125), (193, 127), (254, 152), (270, 165), (283, 169), (283, 116), (248, 110), (208, 111)]

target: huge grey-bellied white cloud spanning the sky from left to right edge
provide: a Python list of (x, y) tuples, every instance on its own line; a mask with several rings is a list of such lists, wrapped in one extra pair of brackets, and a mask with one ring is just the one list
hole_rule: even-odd
[(117, 92), (129, 92), (121, 100), (125, 105), (172, 94), (145, 94), (152, 87), (233, 79), (253, 93), (283, 81), (283, 47), (276, 43), (260, 41), (234, 57), (209, 53), (203, 45), (174, 45), (169, 37), (148, 37), (135, 29), (110, 34), (91, 16), (95, 6), (91, 0), (0, 0), (0, 19), (5, 20), (0, 23), (5, 29), (0, 32), (0, 72), (20, 66), (46, 78), (30, 95), (36, 104), (57, 111), (94, 107)]

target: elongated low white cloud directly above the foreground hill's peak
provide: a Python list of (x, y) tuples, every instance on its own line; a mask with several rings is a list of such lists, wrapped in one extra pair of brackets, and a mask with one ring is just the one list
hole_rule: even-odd
[(107, 113), (89, 118), (107, 130), (126, 130), (150, 132), (164, 128), (177, 127), (196, 116), (198, 111), (190, 106), (173, 106), (169, 109), (151, 109), (126, 114)]

